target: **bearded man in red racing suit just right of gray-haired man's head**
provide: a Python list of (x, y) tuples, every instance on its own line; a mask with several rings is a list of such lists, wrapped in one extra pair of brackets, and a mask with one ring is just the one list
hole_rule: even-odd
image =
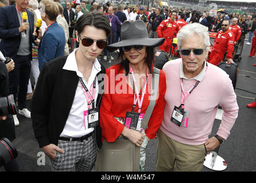
[(235, 36), (230, 28), (230, 22), (228, 19), (224, 19), (222, 22), (222, 30), (220, 30), (214, 40), (214, 47), (212, 47), (209, 62), (218, 66), (224, 59), (224, 54), (227, 52), (227, 61), (234, 63), (232, 60), (232, 53), (234, 50)]

